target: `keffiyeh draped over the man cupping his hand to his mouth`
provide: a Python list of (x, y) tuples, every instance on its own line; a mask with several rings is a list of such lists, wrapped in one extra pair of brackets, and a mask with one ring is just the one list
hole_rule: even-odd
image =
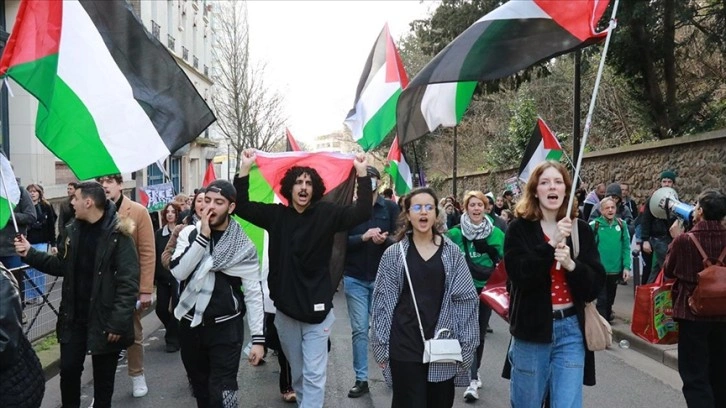
[[(196, 228), (199, 233), (201, 223), (197, 223)], [(191, 327), (202, 322), (204, 310), (212, 297), (215, 274), (209, 273), (210, 271), (222, 272), (242, 279), (260, 280), (257, 249), (237, 222), (230, 220), (222, 238), (214, 245), (211, 255), (205, 254), (196, 273), (179, 297), (179, 304), (174, 309), (174, 316), (181, 319), (194, 308)]]

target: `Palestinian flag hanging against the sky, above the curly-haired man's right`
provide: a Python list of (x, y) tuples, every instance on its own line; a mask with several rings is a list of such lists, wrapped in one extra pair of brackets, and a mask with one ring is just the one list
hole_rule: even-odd
[(363, 150), (369, 151), (381, 144), (396, 125), (396, 102), (407, 84), (406, 70), (386, 24), (368, 55), (355, 94), (355, 106), (345, 118), (353, 140)]

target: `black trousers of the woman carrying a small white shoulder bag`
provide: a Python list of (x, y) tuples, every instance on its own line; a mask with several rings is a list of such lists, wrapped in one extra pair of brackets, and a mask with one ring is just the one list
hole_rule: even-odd
[(428, 382), (429, 365), (391, 359), (393, 379), (392, 408), (451, 408), (454, 405), (454, 379)]

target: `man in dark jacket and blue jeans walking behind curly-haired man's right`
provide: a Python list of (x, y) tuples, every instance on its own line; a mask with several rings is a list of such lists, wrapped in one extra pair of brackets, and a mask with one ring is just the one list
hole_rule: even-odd
[(345, 299), (353, 331), (353, 370), (355, 385), (348, 391), (349, 398), (358, 398), (368, 389), (368, 319), (371, 313), (373, 285), (383, 252), (394, 240), (400, 210), (393, 201), (378, 195), (381, 174), (368, 166), (373, 190), (371, 218), (348, 231), (348, 250), (345, 257)]

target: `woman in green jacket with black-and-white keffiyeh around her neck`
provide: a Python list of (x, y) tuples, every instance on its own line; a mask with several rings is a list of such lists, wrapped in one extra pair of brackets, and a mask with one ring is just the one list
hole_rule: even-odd
[[(464, 195), (461, 222), (446, 233), (464, 255), (477, 293), (481, 293), (497, 262), (504, 256), (504, 232), (495, 227), (494, 219), (486, 214), (488, 203), (489, 199), (481, 191), (467, 192)], [(478, 389), (481, 388), (479, 367), (492, 309), (486, 303), (479, 302), (478, 315), (480, 343), (469, 371), (469, 387), (464, 391), (464, 400), (467, 402), (479, 399)]]

